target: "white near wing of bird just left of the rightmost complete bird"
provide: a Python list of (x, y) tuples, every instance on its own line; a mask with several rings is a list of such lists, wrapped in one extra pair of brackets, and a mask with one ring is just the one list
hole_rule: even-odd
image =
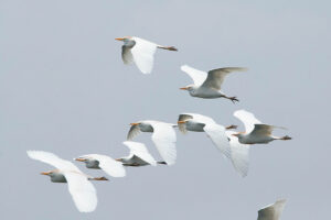
[(216, 123), (207, 123), (203, 128), (207, 136), (212, 140), (214, 145), (226, 156), (231, 157), (231, 148), (227, 136), (225, 134), (225, 128)]

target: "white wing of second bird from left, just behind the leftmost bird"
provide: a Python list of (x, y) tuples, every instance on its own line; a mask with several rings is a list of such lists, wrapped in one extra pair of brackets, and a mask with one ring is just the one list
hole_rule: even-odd
[(126, 176), (126, 169), (120, 162), (115, 161), (110, 156), (102, 154), (88, 154), (85, 155), (92, 157), (99, 162), (99, 167), (113, 177), (124, 177)]

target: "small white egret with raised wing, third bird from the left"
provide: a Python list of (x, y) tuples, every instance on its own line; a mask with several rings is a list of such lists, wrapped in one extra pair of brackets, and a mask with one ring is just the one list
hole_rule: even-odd
[(130, 154), (116, 161), (121, 162), (124, 166), (157, 166), (157, 164), (166, 164), (164, 162), (157, 162), (143, 143), (134, 141), (125, 141), (122, 143), (129, 147)]

